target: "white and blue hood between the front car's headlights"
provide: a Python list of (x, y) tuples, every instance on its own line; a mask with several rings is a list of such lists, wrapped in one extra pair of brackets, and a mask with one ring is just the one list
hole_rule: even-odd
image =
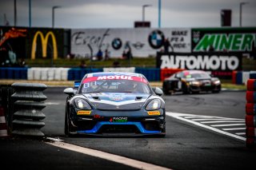
[(146, 93), (86, 93), (83, 94), (96, 109), (138, 110), (150, 94)]

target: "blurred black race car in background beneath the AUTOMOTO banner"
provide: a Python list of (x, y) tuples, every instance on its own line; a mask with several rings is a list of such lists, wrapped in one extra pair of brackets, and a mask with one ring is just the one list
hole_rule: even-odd
[(175, 92), (200, 93), (202, 91), (220, 92), (222, 88), (218, 77), (212, 77), (202, 70), (183, 70), (174, 73), (162, 82), (162, 91), (169, 95)]

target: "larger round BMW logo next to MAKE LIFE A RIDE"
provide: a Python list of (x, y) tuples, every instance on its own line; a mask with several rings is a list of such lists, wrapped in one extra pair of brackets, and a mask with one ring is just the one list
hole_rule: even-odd
[(159, 49), (162, 47), (165, 35), (161, 30), (154, 30), (149, 35), (148, 41), (153, 49)]

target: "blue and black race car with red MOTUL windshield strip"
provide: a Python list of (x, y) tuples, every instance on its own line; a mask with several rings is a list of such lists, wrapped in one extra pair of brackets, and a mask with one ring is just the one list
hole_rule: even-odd
[(88, 73), (67, 88), (65, 134), (166, 135), (162, 89), (139, 73)]

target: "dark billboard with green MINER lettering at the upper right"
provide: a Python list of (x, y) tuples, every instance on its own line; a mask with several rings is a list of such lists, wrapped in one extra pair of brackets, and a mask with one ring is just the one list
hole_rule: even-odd
[(254, 53), (256, 27), (192, 29), (192, 52)]

